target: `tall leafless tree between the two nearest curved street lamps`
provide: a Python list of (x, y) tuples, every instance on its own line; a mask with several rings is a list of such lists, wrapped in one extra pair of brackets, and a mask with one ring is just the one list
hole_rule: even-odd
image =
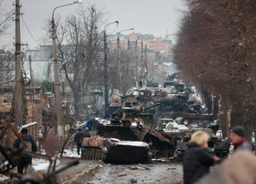
[[(65, 31), (68, 46), (62, 48), (62, 68), (66, 80), (74, 93), (74, 109), (79, 117), (78, 93), (84, 92), (88, 85), (101, 85), (102, 82), (102, 22), (103, 10), (95, 6), (81, 8), (76, 14), (66, 17)], [(72, 51), (70, 51), (72, 50)], [(70, 73), (73, 74), (72, 78)]]

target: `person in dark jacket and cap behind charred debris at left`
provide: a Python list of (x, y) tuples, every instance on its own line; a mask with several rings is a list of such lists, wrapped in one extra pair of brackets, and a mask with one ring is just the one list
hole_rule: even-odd
[[(21, 134), (22, 134), (23, 141), (25, 141), (28, 146), (27, 150), (37, 152), (38, 146), (34, 142), (34, 139), (32, 138), (32, 136), (27, 134), (26, 128), (22, 128)], [(19, 138), (17, 138), (16, 141), (14, 142), (14, 148), (18, 148), (18, 149), (22, 148), (21, 143), (22, 141)], [(18, 173), (23, 174), (24, 168), (26, 168), (26, 166), (28, 166), (29, 164), (32, 165), (32, 157), (22, 157), (21, 161), (18, 163)]]

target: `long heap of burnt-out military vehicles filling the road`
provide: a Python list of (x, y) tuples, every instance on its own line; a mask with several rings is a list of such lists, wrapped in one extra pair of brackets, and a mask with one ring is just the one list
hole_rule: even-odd
[(101, 124), (93, 138), (84, 138), (82, 158), (118, 163), (174, 157), (181, 161), (196, 130), (210, 134), (213, 154), (226, 157), (230, 143), (216, 136), (218, 123), (213, 115), (205, 114), (189, 88), (174, 83), (165, 90), (134, 89), (121, 100), (114, 99), (108, 108), (110, 121)]

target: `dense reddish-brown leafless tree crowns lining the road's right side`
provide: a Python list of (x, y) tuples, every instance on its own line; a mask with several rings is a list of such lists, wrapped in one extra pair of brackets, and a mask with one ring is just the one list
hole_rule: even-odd
[(179, 70), (221, 95), (232, 110), (232, 125), (246, 122), (250, 141), (255, 126), (254, 1), (186, 0), (174, 60)]

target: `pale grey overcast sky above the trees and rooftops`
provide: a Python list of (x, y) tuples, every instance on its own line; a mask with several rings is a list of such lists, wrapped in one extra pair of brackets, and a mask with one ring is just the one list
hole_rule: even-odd
[[(9, 12), (14, 9), (13, 2), (15, 0), (3, 0), (6, 11)], [(20, 0), (20, 2), (22, 3), (22, 17), (26, 22), (26, 26), (38, 41), (40, 35), (43, 34), (44, 19), (51, 16), (56, 6), (68, 4), (74, 2), (74, 0)], [(84, 0), (82, 3), (83, 6), (91, 4), (95, 4), (100, 9), (105, 8), (109, 15), (108, 22), (119, 22), (118, 27), (115, 25), (109, 27), (108, 31), (110, 33), (111, 31), (118, 32), (134, 28), (134, 32), (154, 34), (155, 37), (165, 37), (166, 29), (169, 30), (169, 34), (175, 34), (178, 19), (181, 16), (180, 10), (186, 9), (182, 0)], [(78, 8), (78, 4), (59, 8), (55, 12), (65, 17), (76, 8)], [(15, 23), (12, 21), (11, 25), (9, 29), (11, 34), (1, 38), (1, 49), (3, 46), (7, 46), (8, 49), (14, 48)], [(22, 42), (28, 42), (29, 48), (34, 49), (38, 44), (26, 30), (26, 26), (21, 19)], [(124, 34), (130, 33), (127, 31)]]

